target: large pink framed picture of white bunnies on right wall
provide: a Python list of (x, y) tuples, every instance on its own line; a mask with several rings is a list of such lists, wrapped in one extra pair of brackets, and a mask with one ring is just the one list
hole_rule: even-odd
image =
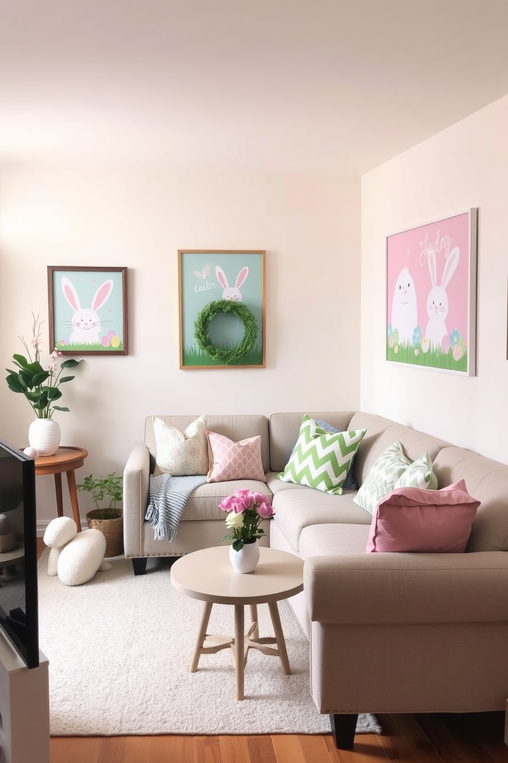
[(386, 237), (386, 359), (476, 374), (478, 209)]

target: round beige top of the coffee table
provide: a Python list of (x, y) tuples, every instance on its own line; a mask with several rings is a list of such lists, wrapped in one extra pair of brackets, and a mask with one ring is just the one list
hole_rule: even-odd
[(213, 604), (265, 604), (303, 591), (303, 561), (294, 554), (260, 546), (254, 572), (236, 572), (229, 546), (181, 556), (171, 565), (171, 584), (193, 599)]

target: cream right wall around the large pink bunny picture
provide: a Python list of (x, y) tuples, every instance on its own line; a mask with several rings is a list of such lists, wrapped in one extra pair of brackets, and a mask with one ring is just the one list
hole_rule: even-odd
[[(362, 179), (361, 407), (504, 463), (507, 126), (508, 96)], [(478, 375), (386, 362), (385, 237), (471, 207), (478, 207)]]

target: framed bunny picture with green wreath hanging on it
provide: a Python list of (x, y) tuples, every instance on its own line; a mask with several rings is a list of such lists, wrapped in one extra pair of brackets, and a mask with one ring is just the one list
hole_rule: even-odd
[(264, 250), (178, 250), (181, 369), (264, 369)]

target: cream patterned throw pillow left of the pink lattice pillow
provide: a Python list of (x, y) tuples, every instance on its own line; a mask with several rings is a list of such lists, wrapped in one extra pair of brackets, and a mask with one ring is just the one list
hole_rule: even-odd
[(208, 443), (206, 417), (200, 416), (184, 432), (152, 417), (157, 456), (155, 475), (169, 472), (173, 477), (206, 475), (208, 472)]

